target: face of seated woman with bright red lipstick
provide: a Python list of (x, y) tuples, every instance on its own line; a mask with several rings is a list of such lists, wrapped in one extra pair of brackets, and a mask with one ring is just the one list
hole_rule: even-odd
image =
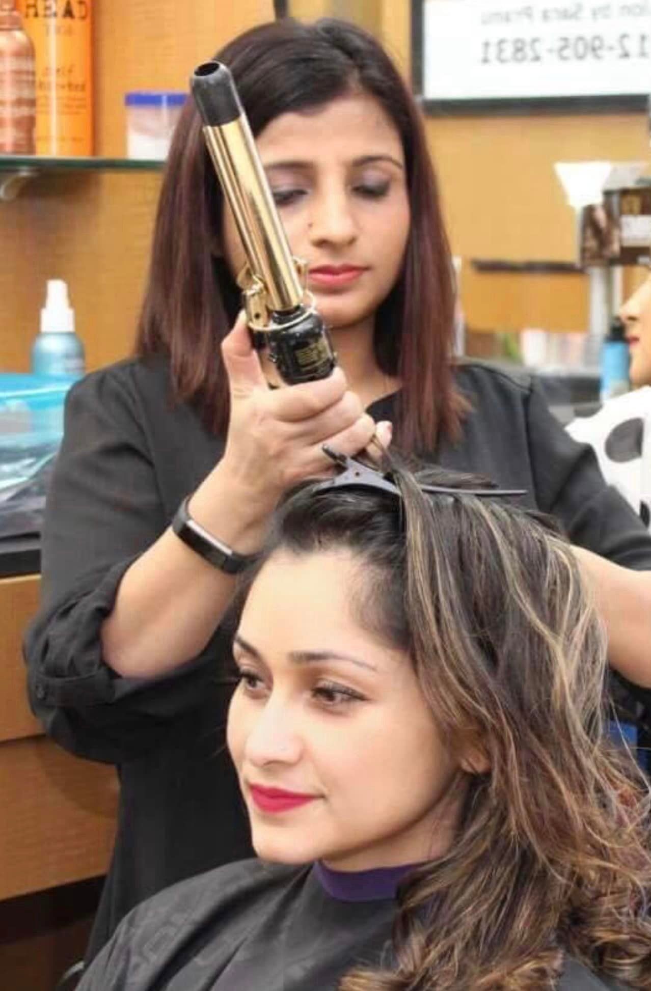
[(363, 571), (280, 552), (247, 600), (228, 743), (264, 859), (365, 870), (450, 845), (457, 763), (407, 655), (355, 618)]

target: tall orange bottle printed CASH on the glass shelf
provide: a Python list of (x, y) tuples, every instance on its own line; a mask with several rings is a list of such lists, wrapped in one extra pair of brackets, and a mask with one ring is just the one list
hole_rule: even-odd
[(92, 155), (92, 0), (18, 0), (18, 8), (36, 50), (37, 155)]

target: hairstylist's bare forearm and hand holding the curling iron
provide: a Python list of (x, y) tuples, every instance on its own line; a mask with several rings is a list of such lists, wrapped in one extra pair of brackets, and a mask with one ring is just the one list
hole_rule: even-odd
[[(343, 454), (366, 448), (374, 434), (390, 441), (348, 389), (341, 368), (327, 379), (271, 389), (241, 316), (224, 340), (231, 416), (222, 460), (188, 502), (191, 518), (238, 554), (262, 546), (283, 492), (326, 474), (321, 446)], [(123, 677), (162, 675), (203, 650), (233, 597), (231, 575), (213, 567), (167, 528), (125, 573), (102, 627), (106, 662)]]

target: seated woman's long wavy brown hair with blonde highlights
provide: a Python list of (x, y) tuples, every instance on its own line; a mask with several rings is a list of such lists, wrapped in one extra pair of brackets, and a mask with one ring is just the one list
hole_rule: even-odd
[(292, 495), (265, 558), (352, 553), (358, 621), (409, 654), (441, 737), (483, 758), (459, 772), (450, 850), (402, 885), (392, 967), (341, 991), (542, 991), (566, 953), (651, 988), (648, 788), (605, 730), (604, 634), (571, 547), (505, 500), (394, 478), (401, 499)]

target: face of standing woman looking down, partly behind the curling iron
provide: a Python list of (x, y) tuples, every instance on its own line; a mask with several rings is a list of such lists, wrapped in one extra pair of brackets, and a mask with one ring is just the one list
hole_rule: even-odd
[[(399, 135), (364, 94), (281, 114), (257, 145), (291, 251), (333, 329), (373, 320), (397, 279), (409, 229)], [(225, 254), (237, 275), (245, 256), (229, 210)]]

